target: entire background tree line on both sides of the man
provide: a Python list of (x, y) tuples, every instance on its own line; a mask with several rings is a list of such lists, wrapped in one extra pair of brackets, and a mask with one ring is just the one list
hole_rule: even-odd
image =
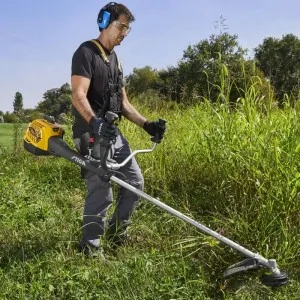
[[(300, 39), (294, 34), (268, 37), (253, 50), (254, 57), (249, 58), (237, 35), (211, 35), (188, 46), (176, 66), (134, 68), (125, 77), (127, 92), (131, 97), (150, 92), (151, 97), (184, 105), (202, 99), (236, 103), (247, 96), (249, 88), (255, 89), (259, 99), (271, 97), (279, 105), (287, 98), (299, 100)], [(0, 111), (5, 122), (28, 121), (41, 113), (58, 118), (70, 113), (71, 87), (65, 83), (47, 90), (32, 109), (23, 108), (22, 94), (17, 92), (13, 108), (12, 113)]]

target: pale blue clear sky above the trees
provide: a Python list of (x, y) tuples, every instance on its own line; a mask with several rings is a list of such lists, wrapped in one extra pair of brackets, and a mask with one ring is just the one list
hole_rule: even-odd
[[(70, 83), (74, 51), (98, 37), (97, 15), (108, 1), (0, 0), (0, 111), (13, 110), (16, 92), (24, 108), (43, 94)], [(226, 32), (253, 49), (266, 37), (300, 37), (299, 0), (123, 0), (136, 21), (115, 48), (129, 75), (133, 68), (177, 66), (189, 45), (211, 34), (225, 19)], [(220, 23), (220, 22), (219, 22)], [(223, 31), (224, 31), (223, 30)]]

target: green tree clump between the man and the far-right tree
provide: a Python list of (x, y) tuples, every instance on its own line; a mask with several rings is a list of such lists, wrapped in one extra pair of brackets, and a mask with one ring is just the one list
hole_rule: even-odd
[(177, 67), (134, 69), (128, 77), (129, 90), (136, 96), (154, 89), (161, 98), (185, 105), (204, 98), (236, 103), (254, 82), (259, 82), (261, 97), (269, 98), (269, 83), (254, 62), (245, 58), (246, 53), (236, 35), (212, 35), (189, 46)]

